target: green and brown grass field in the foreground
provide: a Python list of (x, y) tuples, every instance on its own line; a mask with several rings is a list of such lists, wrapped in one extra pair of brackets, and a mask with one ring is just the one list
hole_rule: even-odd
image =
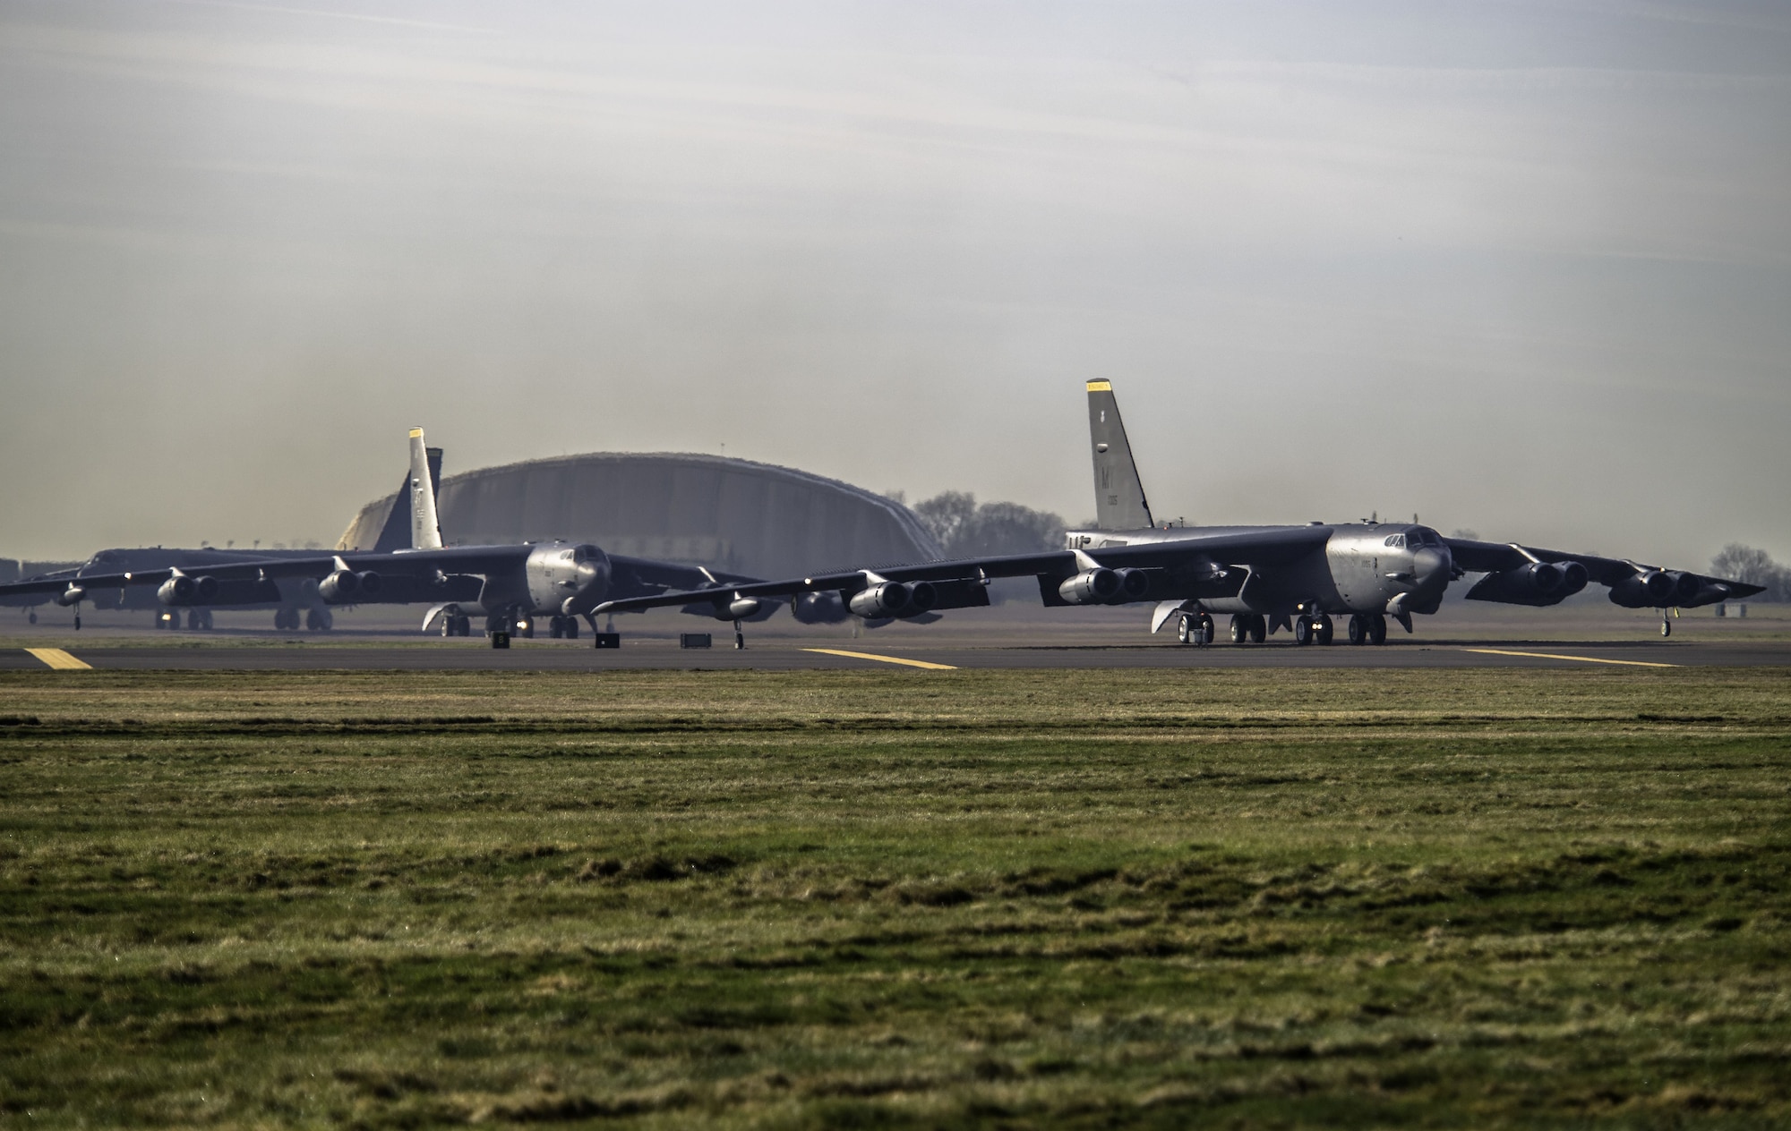
[(0, 673), (0, 1120), (1782, 1126), (1786, 671)]

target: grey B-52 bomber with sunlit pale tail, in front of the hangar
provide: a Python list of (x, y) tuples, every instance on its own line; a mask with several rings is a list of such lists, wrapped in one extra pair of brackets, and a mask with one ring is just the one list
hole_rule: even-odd
[[(494, 648), (509, 648), (512, 634), (534, 635), (537, 616), (550, 617), (555, 637), (577, 637), (578, 617), (584, 617), (602, 648), (614, 644), (614, 634), (596, 632), (593, 608), (607, 598), (754, 583), (754, 578), (700, 566), (609, 555), (589, 542), (442, 546), (421, 428), (410, 429), (408, 490), (410, 546), (403, 549), (281, 558), (242, 555), (202, 566), (45, 576), (0, 585), (0, 600), (54, 592), (59, 605), (73, 605), (79, 612), (90, 592), (154, 585), (158, 601), (174, 608), (244, 605), (279, 601), (281, 582), (301, 578), (313, 582), (315, 594), (328, 605), (432, 601), (423, 626), (439, 623), (442, 635), (471, 635), (471, 617), (484, 616)], [(702, 596), (697, 612), (715, 616), (709, 594)], [(770, 616), (772, 608), (727, 612), (725, 619)]]

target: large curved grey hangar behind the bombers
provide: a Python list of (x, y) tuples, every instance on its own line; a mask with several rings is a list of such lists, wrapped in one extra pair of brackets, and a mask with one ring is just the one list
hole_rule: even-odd
[[(337, 549), (371, 548), (396, 501), (362, 506)], [(593, 453), (484, 467), (444, 476), (437, 508), (448, 544), (568, 539), (761, 578), (944, 557), (894, 499), (722, 456)]]

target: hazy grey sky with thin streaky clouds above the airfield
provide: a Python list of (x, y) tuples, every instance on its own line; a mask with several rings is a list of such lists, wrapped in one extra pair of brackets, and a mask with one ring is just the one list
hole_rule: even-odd
[(0, 0), (0, 555), (707, 451), (1791, 558), (1784, 4)]

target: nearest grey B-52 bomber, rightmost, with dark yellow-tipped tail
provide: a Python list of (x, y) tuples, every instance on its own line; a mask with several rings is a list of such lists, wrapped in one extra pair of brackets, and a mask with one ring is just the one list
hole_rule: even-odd
[[(1433, 614), (1449, 583), (1485, 573), (1476, 601), (1558, 605), (1590, 582), (1624, 608), (1667, 610), (1761, 592), (1759, 585), (1517, 542), (1445, 539), (1418, 523), (1311, 523), (1306, 526), (1157, 526), (1132, 460), (1110, 381), (1089, 381), (1096, 530), (1067, 531), (1060, 551), (856, 569), (810, 578), (727, 585), (709, 592), (609, 600), (604, 612), (707, 600), (716, 616), (750, 612), (767, 598), (838, 594), (865, 619), (915, 617), (989, 603), (992, 578), (1035, 576), (1046, 605), (1155, 603), (1150, 630), (1175, 619), (1182, 642), (1209, 644), (1214, 614), (1230, 616), (1234, 644), (1261, 644), (1290, 628), (1300, 644), (1329, 644), (1333, 617), (1349, 617), (1352, 644), (1384, 644), (1392, 617)], [(736, 623), (736, 646), (745, 641)]]

